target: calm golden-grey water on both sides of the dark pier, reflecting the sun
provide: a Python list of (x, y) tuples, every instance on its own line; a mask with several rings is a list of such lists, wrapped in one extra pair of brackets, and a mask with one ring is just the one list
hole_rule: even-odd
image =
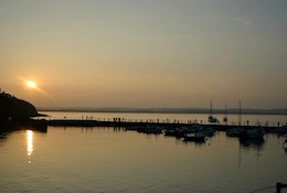
[[(209, 115), (41, 111), (46, 119), (206, 122)], [(224, 115), (214, 115), (222, 120)], [(228, 115), (231, 125), (283, 126), (287, 116)], [(113, 127), (23, 128), (0, 138), (1, 193), (243, 193), (287, 184), (286, 136), (241, 142), (224, 131), (185, 142)], [(287, 192), (281, 189), (281, 192)]]

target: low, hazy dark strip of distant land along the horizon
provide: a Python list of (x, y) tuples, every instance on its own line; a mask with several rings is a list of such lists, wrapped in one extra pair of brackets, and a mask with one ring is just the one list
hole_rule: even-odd
[[(135, 114), (210, 114), (208, 108), (38, 108), (38, 111), (71, 112), (135, 112)], [(212, 114), (225, 114), (225, 109), (213, 109)], [(238, 115), (238, 109), (227, 109), (227, 115)], [(242, 109), (242, 115), (287, 115), (287, 109)]]

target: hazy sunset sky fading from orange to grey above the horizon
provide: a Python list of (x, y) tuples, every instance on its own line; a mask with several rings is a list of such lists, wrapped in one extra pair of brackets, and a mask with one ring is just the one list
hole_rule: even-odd
[(286, 0), (0, 0), (0, 88), (35, 107), (287, 108), (286, 21)]

